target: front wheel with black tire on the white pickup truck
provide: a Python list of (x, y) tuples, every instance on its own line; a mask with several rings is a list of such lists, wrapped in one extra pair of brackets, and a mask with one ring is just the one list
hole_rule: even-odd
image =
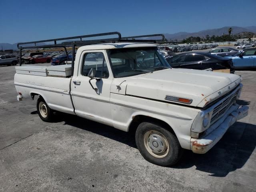
[(154, 122), (140, 123), (136, 130), (135, 139), (140, 154), (153, 164), (172, 166), (182, 156), (183, 149), (178, 138)]

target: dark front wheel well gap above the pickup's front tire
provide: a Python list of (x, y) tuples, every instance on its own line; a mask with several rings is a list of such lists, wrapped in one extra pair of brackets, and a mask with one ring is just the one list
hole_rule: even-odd
[(172, 134), (175, 134), (175, 132), (173, 131), (173, 129), (171, 128), (171, 126), (169, 124), (167, 124), (166, 122), (164, 122), (163, 120), (159, 120), (150, 116), (144, 116), (144, 115), (137, 115), (135, 117), (133, 117), (133, 120), (129, 126), (129, 132), (135, 132), (138, 125), (142, 122), (151, 122), (154, 123), (158, 126), (161, 126), (162, 128), (165, 128), (167, 130), (169, 130), (170, 132), (172, 132)]

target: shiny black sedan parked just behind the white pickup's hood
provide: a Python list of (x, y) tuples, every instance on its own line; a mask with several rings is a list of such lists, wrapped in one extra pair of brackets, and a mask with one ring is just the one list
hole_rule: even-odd
[(188, 68), (206, 70), (224, 70), (230, 69), (230, 73), (234, 73), (232, 59), (223, 58), (204, 52), (182, 53), (167, 59), (167, 62), (173, 68)]

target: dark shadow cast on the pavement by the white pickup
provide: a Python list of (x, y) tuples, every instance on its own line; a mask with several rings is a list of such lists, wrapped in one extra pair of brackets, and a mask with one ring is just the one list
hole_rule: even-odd
[[(31, 114), (36, 114), (36, 112)], [(124, 132), (78, 116), (62, 113), (58, 115), (58, 122), (64, 122), (64, 124), (136, 148), (134, 132)], [(196, 166), (196, 170), (208, 172), (211, 176), (225, 177), (229, 172), (244, 166), (256, 146), (255, 138), (256, 125), (236, 122), (206, 154), (194, 154), (190, 150), (184, 150), (180, 162), (172, 168), (186, 169)]]

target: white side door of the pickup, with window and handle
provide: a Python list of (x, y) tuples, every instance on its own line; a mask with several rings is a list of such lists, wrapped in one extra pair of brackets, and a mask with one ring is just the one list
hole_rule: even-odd
[[(110, 86), (112, 74), (106, 62), (105, 50), (84, 51), (80, 60), (78, 75), (72, 79), (72, 98), (78, 116), (112, 126), (110, 112)], [(91, 68), (96, 70), (96, 79), (89, 83), (88, 73)]]

